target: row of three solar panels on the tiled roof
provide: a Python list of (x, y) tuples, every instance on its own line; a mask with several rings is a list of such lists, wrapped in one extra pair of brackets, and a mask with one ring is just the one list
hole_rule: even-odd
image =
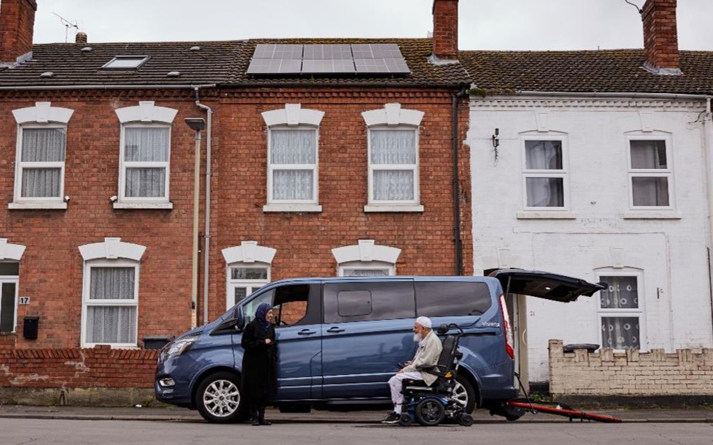
[(260, 43), (247, 74), (407, 74), (395, 43)]

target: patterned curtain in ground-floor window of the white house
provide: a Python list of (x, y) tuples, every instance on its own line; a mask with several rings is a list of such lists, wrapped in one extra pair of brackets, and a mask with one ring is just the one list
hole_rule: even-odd
[[(600, 308), (636, 310), (639, 308), (637, 278), (634, 276), (602, 276), (609, 286), (600, 291)], [(639, 317), (602, 316), (604, 347), (640, 348)]]

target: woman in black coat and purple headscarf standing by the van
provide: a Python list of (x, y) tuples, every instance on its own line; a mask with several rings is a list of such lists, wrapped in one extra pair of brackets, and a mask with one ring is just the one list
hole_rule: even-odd
[(247, 397), (253, 425), (270, 425), (265, 420), (265, 403), (277, 390), (277, 345), (272, 326), (272, 306), (262, 303), (255, 319), (242, 333), (241, 392)]

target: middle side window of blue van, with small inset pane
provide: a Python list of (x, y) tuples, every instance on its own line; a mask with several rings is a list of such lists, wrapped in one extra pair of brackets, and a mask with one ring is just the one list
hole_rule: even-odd
[(324, 323), (414, 318), (411, 281), (327, 283), (324, 285)]

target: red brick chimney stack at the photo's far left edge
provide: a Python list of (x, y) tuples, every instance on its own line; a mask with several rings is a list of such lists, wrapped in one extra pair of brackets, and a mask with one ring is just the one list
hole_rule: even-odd
[(36, 0), (0, 1), (0, 64), (32, 58)]

